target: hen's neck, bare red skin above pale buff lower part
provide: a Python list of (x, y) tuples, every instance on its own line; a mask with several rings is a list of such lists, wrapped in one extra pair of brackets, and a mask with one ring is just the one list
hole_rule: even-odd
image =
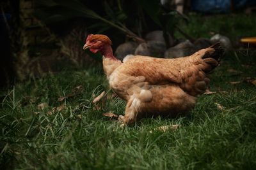
[(107, 74), (109, 77), (113, 71), (119, 67), (122, 62), (113, 55), (113, 50), (110, 45), (106, 45), (103, 48), (100, 49), (100, 52), (103, 55), (103, 69), (104, 72)]

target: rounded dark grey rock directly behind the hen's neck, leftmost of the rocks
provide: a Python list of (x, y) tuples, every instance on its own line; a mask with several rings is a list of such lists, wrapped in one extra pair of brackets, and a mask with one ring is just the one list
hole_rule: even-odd
[(135, 42), (126, 42), (122, 43), (116, 48), (115, 57), (117, 59), (123, 60), (126, 55), (134, 54), (138, 43)]

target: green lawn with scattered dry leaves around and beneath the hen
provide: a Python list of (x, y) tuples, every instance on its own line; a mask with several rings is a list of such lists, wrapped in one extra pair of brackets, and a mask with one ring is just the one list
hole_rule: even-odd
[(253, 50), (228, 52), (210, 75), (216, 93), (186, 117), (127, 127), (102, 115), (124, 114), (125, 103), (101, 64), (16, 83), (0, 92), (0, 169), (255, 169), (255, 64)]

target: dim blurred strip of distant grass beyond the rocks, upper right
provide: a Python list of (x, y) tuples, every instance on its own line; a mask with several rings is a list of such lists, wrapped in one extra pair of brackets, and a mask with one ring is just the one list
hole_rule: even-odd
[[(194, 38), (211, 38), (214, 34), (222, 34), (234, 42), (240, 38), (255, 36), (254, 23), (255, 13), (246, 15), (244, 13), (219, 14), (219, 15), (198, 15), (190, 13), (188, 24), (180, 24), (180, 27), (187, 34)], [(182, 37), (176, 33), (178, 37)], [(234, 43), (236, 45), (236, 43)]]

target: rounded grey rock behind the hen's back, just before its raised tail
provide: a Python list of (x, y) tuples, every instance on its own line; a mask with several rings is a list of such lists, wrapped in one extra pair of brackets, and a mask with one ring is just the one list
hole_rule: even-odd
[(186, 40), (178, 45), (168, 48), (168, 50), (164, 52), (164, 58), (171, 59), (185, 57), (195, 53), (196, 51), (196, 46), (193, 45), (189, 40)]

